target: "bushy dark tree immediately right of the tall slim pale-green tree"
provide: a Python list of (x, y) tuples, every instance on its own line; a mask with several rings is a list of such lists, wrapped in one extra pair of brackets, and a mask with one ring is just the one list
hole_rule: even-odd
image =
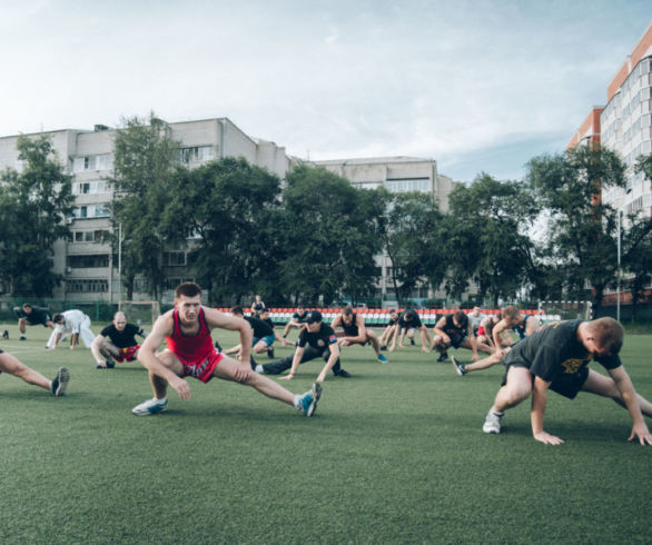
[(179, 171), (174, 184), (161, 229), (199, 237), (194, 268), (210, 299), (235, 303), (251, 291), (266, 294), (277, 271), (278, 177), (225, 158)]

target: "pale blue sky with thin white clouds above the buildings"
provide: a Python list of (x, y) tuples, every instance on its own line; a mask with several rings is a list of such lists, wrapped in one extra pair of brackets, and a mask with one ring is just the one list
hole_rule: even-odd
[(518, 179), (560, 152), (650, 0), (1, 0), (0, 136), (228, 117), (290, 155)]

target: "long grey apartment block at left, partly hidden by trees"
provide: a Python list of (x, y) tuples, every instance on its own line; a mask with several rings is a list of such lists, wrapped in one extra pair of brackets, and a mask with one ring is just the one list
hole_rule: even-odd
[[(181, 142), (179, 160), (190, 167), (223, 157), (244, 157), (281, 179), (289, 168), (290, 159), (285, 148), (247, 136), (227, 118), (168, 126), (171, 138)], [(112, 229), (109, 220), (112, 188), (107, 178), (113, 174), (116, 129), (97, 125), (95, 130), (62, 129), (45, 135), (50, 138), (61, 166), (72, 176), (75, 195), (73, 217), (68, 219), (71, 237), (55, 246), (55, 270), (63, 276), (63, 283), (53, 297), (117, 303), (121, 297), (119, 264), (115, 262), (119, 256), (116, 258), (111, 252), (105, 236)], [(0, 169), (22, 169), (16, 149), (17, 139), (17, 136), (0, 138)], [(186, 251), (169, 251), (164, 256), (164, 262), (170, 286), (188, 279)], [(147, 298), (145, 287), (138, 280), (136, 290)]]

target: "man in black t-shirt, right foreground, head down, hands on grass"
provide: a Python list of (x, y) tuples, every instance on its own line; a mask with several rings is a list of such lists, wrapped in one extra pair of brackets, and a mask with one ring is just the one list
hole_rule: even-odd
[[(517, 343), (505, 356), (503, 387), (490, 409), (483, 432), (500, 434), (504, 410), (532, 395), (532, 435), (541, 443), (559, 445), (562, 439), (543, 429), (547, 390), (573, 399), (579, 392), (611, 397), (632, 416), (629, 440), (652, 445), (643, 414), (652, 416), (652, 404), (636, 394), (619, 357), (624, 331), (613, 318), (593, 321), (569, 320), (550, 324)], [(589, 369), (595, 359), (609, 377)]]

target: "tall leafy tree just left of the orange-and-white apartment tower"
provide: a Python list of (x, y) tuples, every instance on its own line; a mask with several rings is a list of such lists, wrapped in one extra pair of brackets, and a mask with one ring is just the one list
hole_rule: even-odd
[(616, 274), (616, 212), (600, 196), (602, 189), (624, 187), (623, 162), (606, 148), (580, 146), (534, 158), (527, 169), (535, 198), (550, 214), (547, 250), (563, 276), (566, 297), (592, 297), (599, 307)]

